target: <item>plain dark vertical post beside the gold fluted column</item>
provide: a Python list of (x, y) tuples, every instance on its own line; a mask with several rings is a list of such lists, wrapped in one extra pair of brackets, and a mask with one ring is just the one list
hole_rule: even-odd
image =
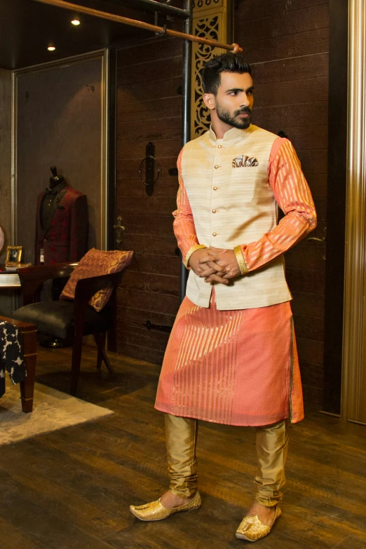
[(323, 411), (341, 409), (346, 230), (348, 0), (330, 0)]

